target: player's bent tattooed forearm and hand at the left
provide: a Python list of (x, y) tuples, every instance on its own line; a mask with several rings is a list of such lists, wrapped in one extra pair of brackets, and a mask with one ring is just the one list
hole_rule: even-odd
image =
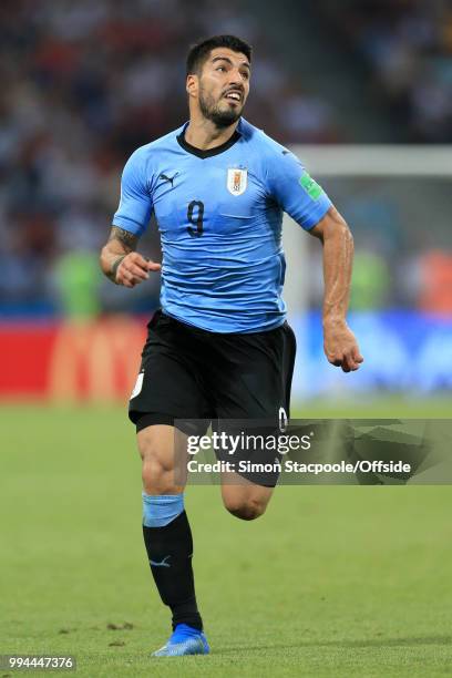
[(161, 269), (161, 265), (150, 261), (136, 249), (138, 238), (123, 228), (113, 226), (109, 240), (101, 251), (101, 268), (105, 276), (116, 285), (135, 287), (147, 280), (148, 271)]

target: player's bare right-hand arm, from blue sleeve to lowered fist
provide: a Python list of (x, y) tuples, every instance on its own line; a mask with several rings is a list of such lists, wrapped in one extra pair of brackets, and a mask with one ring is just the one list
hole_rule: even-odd
[(353, 261), (353, 238), (336, 207), (331, 207), (310, 233), (323, 245), (325, 353), (331, 364), (350, 372), (357, 370), (363, 360), (346, 319)]

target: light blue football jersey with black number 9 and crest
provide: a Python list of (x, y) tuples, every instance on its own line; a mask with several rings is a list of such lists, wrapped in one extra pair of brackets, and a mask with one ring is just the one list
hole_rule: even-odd
[(309, 230), (331, 202), (292, 153), (244, 119), (208, 151), (185, 141), (186, 126), (132, 154), (113, 224), (140, 236), (154, 210), (168, 316), (213, 332), (276, 328), (286, 317), (282, 212)]

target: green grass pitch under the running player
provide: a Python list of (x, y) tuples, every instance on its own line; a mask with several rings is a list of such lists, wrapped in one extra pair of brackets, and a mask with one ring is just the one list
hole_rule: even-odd
[[(392, 399), (302, 411), (452, 408)], [(0, 654), (71, 654), (90, 678), (452, 675), (452, 487), (285, 486), (251, 523), (224, 511), (218, 487), (189, 487), (212, 655), (152, 659), (168, 613), (144, 554), (123, 410), (2, 405), (0, 419)]]

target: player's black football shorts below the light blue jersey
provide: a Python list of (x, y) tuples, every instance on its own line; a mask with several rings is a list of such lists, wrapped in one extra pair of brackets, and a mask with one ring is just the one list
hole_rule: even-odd
[(137, 431), (175, 420), (259, 420), (277, 428), (281, 408), (289, 417), (296, 340), (287, 322), (218, 333), (157, 310), (147, 328), (129, 409)]

